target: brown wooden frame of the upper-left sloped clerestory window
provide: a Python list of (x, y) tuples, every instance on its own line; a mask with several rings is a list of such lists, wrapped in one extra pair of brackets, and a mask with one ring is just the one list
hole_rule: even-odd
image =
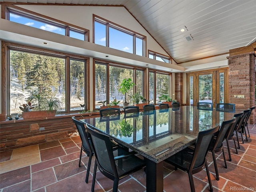
[[(10, 20), (10, 13), (14, 13), (14, 14), (22, 16), (22, 17), (30, 18), (30, 19), (33, 19), (33, 20), (36, 20), (39, 22), (44, 22), (45, 24), (50, 24), (52, 26), (63, 28), (65, 30), (65, 36), (70, 36), (70, 30), (84, 34), (84, 41), (89, 42), (90, 38), (89, 38), (89, 30), (88, 29), (81, 28), (79, 26), (75, 26), (75, 25), (72, 25), (72, 24), (69, 24), (66, 22), (62, 22), (60, 20), (56, 20), (54, 18), (44, 16), (42, 14), (38, 14), (36, 12), (32, 12), (32, 11), (26, 10), (24, 8), (19, 8), (14, 5), (8, 5), (8, 6), (3, 5), (3, 7), (5, 10), (4, 19), (6, 19), (6, 20)], [(55, 32), (53, 32), (53, 33), (55, 33)], [(56, 33), (56, 34), (58, 34), (58, 33)], [(78, 40), (81, 40), (81, 39), (78, 39)]]

